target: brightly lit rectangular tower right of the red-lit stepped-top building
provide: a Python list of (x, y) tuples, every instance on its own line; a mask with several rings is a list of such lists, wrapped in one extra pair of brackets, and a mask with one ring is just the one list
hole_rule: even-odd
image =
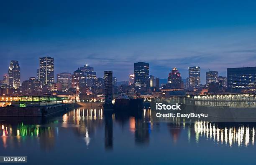
[(190, 88), (199, 88), (200, 87), (200, 67), (194, 66), (189, 67), (189, 87)]

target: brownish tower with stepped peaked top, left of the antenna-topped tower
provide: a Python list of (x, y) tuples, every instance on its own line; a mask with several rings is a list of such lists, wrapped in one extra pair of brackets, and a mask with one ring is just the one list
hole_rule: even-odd
[(76, 71), (74, 71), (74, 74), (72, 76), (72, 87), (74, 88), (81, 88), (85, 87), (85, 79), (84, 72), (77, 68)]

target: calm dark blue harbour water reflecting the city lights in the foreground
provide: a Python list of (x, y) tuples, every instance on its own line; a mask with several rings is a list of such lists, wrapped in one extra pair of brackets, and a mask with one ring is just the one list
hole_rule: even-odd
[(189, 122), (79, 108), (56, 117), (1, 117), (0, 156), (28, 164), (255, 164), (253, 123)]

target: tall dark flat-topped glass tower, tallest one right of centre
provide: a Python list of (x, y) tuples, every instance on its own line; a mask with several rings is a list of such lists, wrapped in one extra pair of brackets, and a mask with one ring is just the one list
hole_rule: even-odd
[(146, 62), (134, 63), (134, 85), (136, 90), (141, 90), (147, 86), (149, 75), (149, 64)]

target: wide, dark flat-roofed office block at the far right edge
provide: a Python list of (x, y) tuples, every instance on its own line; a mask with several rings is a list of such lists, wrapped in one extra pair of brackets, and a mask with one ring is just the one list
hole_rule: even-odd
[(256, 67), (236, 67), (227, 69), (229, 89), (255, 89)]

